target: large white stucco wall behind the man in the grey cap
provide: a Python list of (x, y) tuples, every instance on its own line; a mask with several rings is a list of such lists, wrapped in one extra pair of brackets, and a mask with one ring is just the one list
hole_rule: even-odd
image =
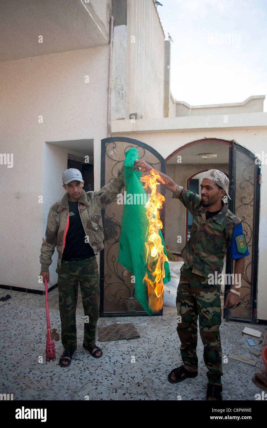
[[(60, 180), (70, 152), (50, 147), (52, 164), (53, 158), (44, 159), (45, 142), (94, 139), (94, 180), (100, 186), (101, 139), (107, 137), (108, 45), (2, 62), (0, 74), (1, 152), (14, 155), (12, 168), (0, 165), (0, 283), (41, 290), (43, 217), (53, 201), (49, 196), (49, 202), (38, 203), (38, 196), (45, 196), (45, 180), (54, 202), (62, 196)], [(43, 123), (38, 122), (40, 115)], [(55, 274), (52, 277), (57, 282)]]

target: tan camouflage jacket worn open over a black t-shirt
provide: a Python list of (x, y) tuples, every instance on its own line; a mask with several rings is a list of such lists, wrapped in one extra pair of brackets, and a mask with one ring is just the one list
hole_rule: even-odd
[[(78, 209), (84, 226), (84, 235), (88, 236), (89, 243), (95, 254), (104, 248), (104, 229), (102, 224), (101, 208), (117, 199), (117, 194), (122, 193), (124, 187), (123, 166), (118, 169), (117, 174), (111, 181), (100, 190), (85, 192), (82, 190), (78, 201)], [(66, 235), (69, 228), (69, 193), (51, 205), (45, 240), (42, 243), (40, 263), (41, 271), (48, 272), (51, 265), (51, 257), (57, 246), (58, 260), (57, 271), (60, 268), (62, 253), (65, 247)]]

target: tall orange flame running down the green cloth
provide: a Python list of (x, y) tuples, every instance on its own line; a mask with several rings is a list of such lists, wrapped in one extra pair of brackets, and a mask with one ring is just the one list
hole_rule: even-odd
[(163, 251), (159, 229), (162, 229), (162, 222), (159, 218), (159, 210), (165, 201), (165, 197), (157, 192), (156, 187), (159, 182), (165, 183), (156, 171), (140, 178), (144, 181), (144, 189), (151, 189), (150, 199), (146, 204), (147, 219), (149, 221), (149, 237), (145, 246), (147, 248), (147, 272), (143, 279), (143, 284), (147, 287), (149, 307), (153, 312), (158, 312), (163, 307), (163, 278), (165, 278), (164, 263), (168, 261)]

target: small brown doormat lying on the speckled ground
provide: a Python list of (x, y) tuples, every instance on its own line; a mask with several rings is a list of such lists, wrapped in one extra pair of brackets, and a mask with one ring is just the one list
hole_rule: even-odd
[(107, 327), (99, 327), (99, 342), (110, 342), (111, 340), (139, 339), (140, 336), (132, 323), (110, 324)]

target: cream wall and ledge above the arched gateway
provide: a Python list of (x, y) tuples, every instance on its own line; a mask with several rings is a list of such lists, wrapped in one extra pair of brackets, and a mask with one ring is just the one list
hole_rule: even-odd
[[(235, 120), (233, 116), (236, 116)], [(164, 158), (167, 158), (168, 155), (171, 155), (172, 152), (185, 144), (195, 140), (201, 140), (204, 137), (228, 141), (234, 139), (253, 154), (261, 153), (262, 150), (267, 150), (267, 113), (229, 115), (228, 124), (225, 125), (222, 125), (222, 116), (166, 118), (159, 121), (154, 121), (153, 119), (143, 121), (140, 119), (136, 121), (135, 124), (129, 123), (128, 129), (132, 127), (138, 130), (139, 128), (144, 129), (144, 132), (123, 132), (124, 128), (126, 128), (126, 121), (120, 122), (124, 123), (119, 124), (118, 122), (114, 122), (112, 124), (113, 130), (119, 130), (121, 128), (121, 132), (114, 132), (112, 134), (113, 137), (116, 135), (123, 135), (143, 141), (156, 149)], [(177, 126), (177, 123), (179, 124), (180, 130), (174, 131), (174, 125)], [(245, 127), (245, 123), (247, 124), (247, 129), (238, 128), (239, 126)], [(252, 126), (253, 123), (254, 125)], [(203, 130), (196, 131), (195, 129), (200, 126)], [(208, 126), (211, 129), (209, 129)], [(230, 129), (222, 129), (219, 128), (219, 126), (229, 127)], [(161, 131), (163, 128), (165, 131)], [(186, 128), (188, 128), (187, 131)], [(193, 130), (190, 130), (190, 128), (193, 128)], [(267, 198), (265, 196), (267, 195), (267, 160), (266, 164), (262, 165), (261, 177), (257, 318), (266, 320)]]

